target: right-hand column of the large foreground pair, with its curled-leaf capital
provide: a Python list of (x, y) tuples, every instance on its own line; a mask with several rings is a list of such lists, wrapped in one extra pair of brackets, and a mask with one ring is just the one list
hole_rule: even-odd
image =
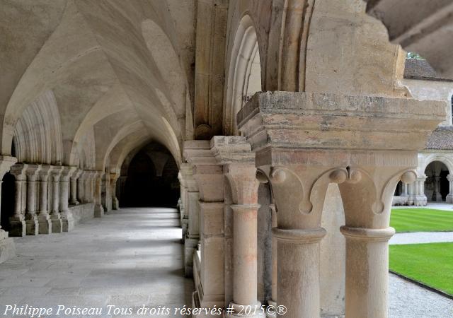
[(398, 181), (414, 182), (416, 174), (402, 169), (413, 163), (411, 153), (389, 151), (385, 157), (382, 162), (398, 159), (391, 165), (351, 169), (352, 177), (340, 184), (346, 219), (340, 229), (346, 238), (346, 317), (388, 315), (388, 241), (395, 232), (389, 227), (391, 199)]

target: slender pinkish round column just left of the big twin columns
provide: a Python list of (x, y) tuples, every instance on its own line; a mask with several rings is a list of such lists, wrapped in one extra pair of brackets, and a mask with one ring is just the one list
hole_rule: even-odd
[[(249, 156), (252, 155), (252, 156)], [(233, 263), (234, 312), (229, 317), (265, 317), (257, 298), (257, 213), (258, 179), (253, 153), (244, 151), (243, 163), (224, 165), (224, 173), (231, 187), (233, 203)], [(251, 314), (246, 314), (248, 308)], [(245, 310), (245, 312), (244, 312)]]

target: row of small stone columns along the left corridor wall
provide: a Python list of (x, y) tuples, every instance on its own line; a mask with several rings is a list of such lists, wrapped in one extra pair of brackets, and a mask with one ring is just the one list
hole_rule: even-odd
[[(94, 216), (103, 215), (100, 183), (103, 172), (22, 163), (12, 165), (10, 172), (16, 178), (14, 211), (9, 218), (10, 236), (72, 230), (75, 221), (69, 204), (94, 202)], [(115, 184), (109, 186), (115, 187)]]

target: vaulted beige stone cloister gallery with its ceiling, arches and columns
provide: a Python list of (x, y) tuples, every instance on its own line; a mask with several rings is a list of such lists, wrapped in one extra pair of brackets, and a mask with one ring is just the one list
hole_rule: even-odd
[(178, 174), (159, 187), (179, 197), (193, 308), (387, 317), (395, 190), (418, 205), (443, 177), (453, 191), (453, 160), (429, 146), (451, 93), (404, 76), (398, 45), (451, 78), (434, 40), (452, 31), (414, 34), (452, 6), (390, 2), (0, 1), (0, 262), (14, 236), (152, 196), (127, 190), (149, 169)]

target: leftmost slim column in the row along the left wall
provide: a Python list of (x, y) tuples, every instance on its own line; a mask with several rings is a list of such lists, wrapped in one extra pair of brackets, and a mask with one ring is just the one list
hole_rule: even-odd
[[(12, 157), (11, 157), (12, 158)], [(14, 213), (9, 218), (10, 236), (25, 236), (25, 204), (23, 204), (23, 192), (26, 192), (25, 167), (21, 164), (16, 164), (11, 167), (11, 175), (16, 178), (16, 192), (14, 193)]]

